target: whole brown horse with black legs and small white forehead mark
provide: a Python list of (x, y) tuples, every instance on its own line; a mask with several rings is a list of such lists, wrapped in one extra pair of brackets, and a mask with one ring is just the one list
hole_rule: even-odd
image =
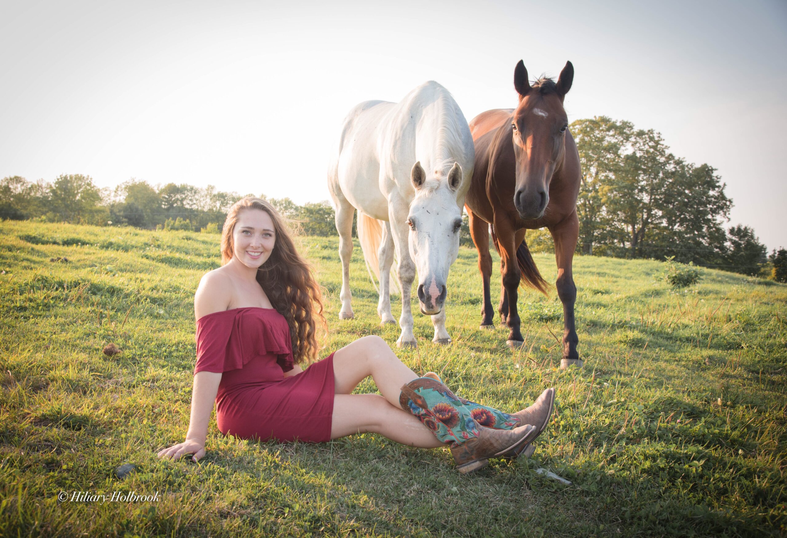
[(520, 278), (546, 293), (547, 283), (538, 272), (525, 244), (525, 230), (548, 227), (555, 241), (557, 294), (563, 302), (563, 360), (560, 366), (582, 366), (577, 354), (574, 302), (577, 288), (571, 261), (577, 245), (579, 222), (577, 194), (581, 181), (579, 154), (563, 109), (571, 89), (574, 66), (567, 62), (557, 83), (541, 77), (531, 87), (522, 61), (514, 70), (519, 93), (516, 109), (482, 112), (470, 122), (475, 142), (475, 170), (465, 207), (470, 234), (478, 249), (478, 269), (483, 278), (484, 305), (481, 327), (493, 328), (489, 252), (491, 224), (495, 249), (501, 256), (503, 287), (501, 322), (508, 325), (508, 345), (523, 344), (516, 310)]

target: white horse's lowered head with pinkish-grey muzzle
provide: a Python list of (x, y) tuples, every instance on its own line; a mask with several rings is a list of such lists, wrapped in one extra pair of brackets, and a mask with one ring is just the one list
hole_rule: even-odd
[(443, 308), (448, 271), (459, 254), (462, 208), (456, 204), (456, 190), (462, 182), (462, 168), (455, 163), (446, 179), (435, 173), (427, 181), (417, 162), (411, 178), (416, 197), (408, 213), (408, 245), (418, 271), (421, 313), (435, 315)]

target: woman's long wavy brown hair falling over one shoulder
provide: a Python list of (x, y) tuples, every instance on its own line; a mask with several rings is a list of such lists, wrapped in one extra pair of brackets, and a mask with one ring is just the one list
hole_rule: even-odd
[(227, 212), (221, 230), (221, 264), (226, 265), (232, 260), (235, 252), (232, 234), (238, 223), (238, 214), (244, 209), (261, 209), (273, 221), (275, 245), (271, 256), (257, 271), (257, 282), (273, 308), (284, 316), (290, 326), (294, 363), (316, 359), (320, 349), (317, 345), (317, 322), (327, 329), (320, 286), (309, 263), (297, 253), (285, 219), (268, 201), (245, 197), (235, 202)]

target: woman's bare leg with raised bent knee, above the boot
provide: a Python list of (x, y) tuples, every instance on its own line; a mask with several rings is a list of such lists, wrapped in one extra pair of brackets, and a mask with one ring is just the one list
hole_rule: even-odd
[(334, 389), (337, 394), (353, 392), (358, 383), (370, 375), (380, 394), (397, 408), (401, 386), (418, 377), (379, 336), (359, 338), (334, 352)]

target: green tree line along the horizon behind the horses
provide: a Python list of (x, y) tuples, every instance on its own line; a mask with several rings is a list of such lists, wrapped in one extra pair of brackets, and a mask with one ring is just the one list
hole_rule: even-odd
[[(733, 202), (715, 168), (675, 157), (658, 132), (627, 121), (576, 120), (571, 133), (582, 162), (578, 253), (674, 256), (684, 263), (787, 281), (785, 249), (767, 256), (751, 227), (725, 228)], [(218, 232), (228, 209), (244, 196), (186, 183), (152, 186), (131, 179), (100, 189), (87, 175), (60, 175), (54, 182), (16, 175), (0, 181), (0, 218)], [(327, 201), (268, 201), (304, 234), (337, 234)], [(460, 241), (472, 245), (467, 216)], [(553, 249), (547, 230), (529, 231), (527, 243), (535, 252)]]

